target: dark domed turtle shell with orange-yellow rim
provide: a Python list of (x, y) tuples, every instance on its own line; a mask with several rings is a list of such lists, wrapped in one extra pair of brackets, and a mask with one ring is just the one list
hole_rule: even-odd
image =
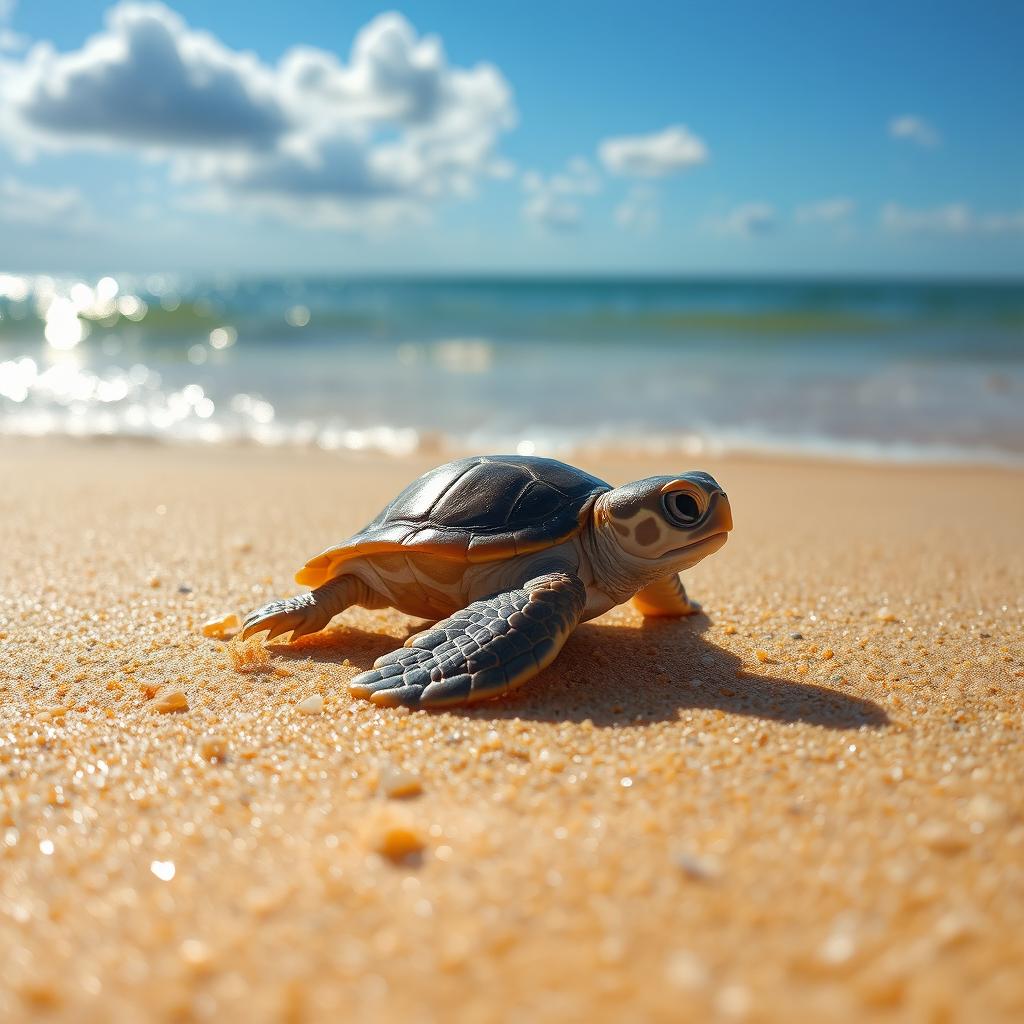
[(384, 552), (493, 562), (543, 551), (578, 534), (594, 499), (610, 489), (554, 459), (459, 459), (414, 480), (359, 532), (306, 562), (295, 580), (319, 587), (350, 558)]

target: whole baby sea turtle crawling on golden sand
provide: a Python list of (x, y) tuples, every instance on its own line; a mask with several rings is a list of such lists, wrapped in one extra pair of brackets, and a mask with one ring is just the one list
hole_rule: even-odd
[(681, 569), (718, 551), (729, 501), (707, 473), (622, 487), (553, 459), (478, 456), (411, 483), (354, 537), (306, 562), (312, 591), (271, 601), (242, 636), (315, 633), (351, 605), (439, 620), (356, 676), (377, 705), (495, 697), (554, 660), (577, 625), (633, 600), (688, 615)]

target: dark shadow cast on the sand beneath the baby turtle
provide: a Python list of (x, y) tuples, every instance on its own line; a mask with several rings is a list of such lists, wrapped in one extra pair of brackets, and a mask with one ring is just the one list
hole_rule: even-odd
[[(884, 726), (889, 718), (871, 700), (815, 683), (762, 676), (702, 634), (707, 615), (653, 618), (637, 626), (586, 623), (569, 637), (555, 663), (521, 689), (497, 700), (432, 714), (478, 719), (521, 718), (596, 726), (673, 721), (688, 709), (718, 710), (776, 722), (806, 722), (830, 729)], [(423, 629), (418, 623), (410, 635)], [(339, 623), (294, 645), (274, 644), (274, 655), (340, 665), (360, 672), (397, 645), (394, 636)]]

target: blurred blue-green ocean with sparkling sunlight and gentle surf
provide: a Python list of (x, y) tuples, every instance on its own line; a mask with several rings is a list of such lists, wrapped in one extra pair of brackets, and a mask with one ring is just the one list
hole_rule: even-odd
[(0, 433), (1024, 461), (1024, 286), (0, 273)]

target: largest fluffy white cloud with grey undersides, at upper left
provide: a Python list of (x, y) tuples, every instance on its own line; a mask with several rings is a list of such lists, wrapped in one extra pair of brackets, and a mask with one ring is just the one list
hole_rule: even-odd
[(6, 134), (39, 150), (127, 148), (171, 163), (194, 203), (331, 226), (422, 216), (504, 167), (511, 90), (486, 63), (451, 66), (397, 13), (348, 62), (296, 47), (275, 66), (189, 28), (159, 3), (114, 7), (81, 49), (0, 63)]

